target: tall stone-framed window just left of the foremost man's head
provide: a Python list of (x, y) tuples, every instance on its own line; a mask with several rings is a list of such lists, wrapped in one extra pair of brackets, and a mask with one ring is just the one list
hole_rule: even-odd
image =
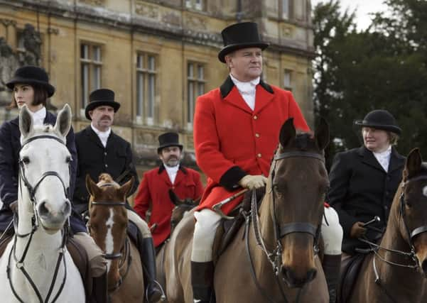
[(206, 64), (195, 60), (187, 61), (187, 129), (193, 130), (195, 101), (197, 97), (205, 94), (206, 88)]

